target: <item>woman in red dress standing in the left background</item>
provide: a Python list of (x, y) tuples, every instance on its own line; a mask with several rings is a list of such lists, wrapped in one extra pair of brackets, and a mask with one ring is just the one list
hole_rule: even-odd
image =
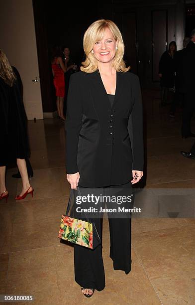
[(54, 77), (54, 86), (56, 89), (56, 105), (58, 116), (63, 121), (65, 120), (64, 117), (64, 95), (65, 95), (65, 80), (64, 80), (64, 73), (67, 71), (67, 65), (64, 64), (62, 57), (61, 57), (61, 50), (60, 48), (56, 47), (53, 49), (53, 56), (52, 56), (52, 73)]

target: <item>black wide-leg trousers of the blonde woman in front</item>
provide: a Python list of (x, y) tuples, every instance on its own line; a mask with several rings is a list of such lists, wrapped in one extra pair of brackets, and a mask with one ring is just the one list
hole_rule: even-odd
[[(82, 186), (78, 185), (79, 188)], [(103, 188), (129, 188), (128, 182), (123, 185), (112, 185)], [(102, 218), (90, 219), (94, 222), (98, 235), (102, 240)], [(131, 218), (109, 218), (110, 253), (114, 270), (123, 270), (126, 274), (131, 271)], [(105, 287), (105, 275), (102, 259), (102, 245), (96, 249), (88, 249), (74, 245), (75, 281), (86, 288), (101, 291)]]

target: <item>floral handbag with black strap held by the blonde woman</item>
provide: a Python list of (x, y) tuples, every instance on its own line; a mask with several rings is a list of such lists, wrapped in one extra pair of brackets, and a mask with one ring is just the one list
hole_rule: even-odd
[(73, 244), (95, 249), (101, 243), (95, 224), (87, 221), (89, 219), (82, 220), (68, 215), (71, 203), (75, 204), (75, 191), (81, 196), (79, 188), (71, 189), (66, 214), (61, 217), (58, 237)]

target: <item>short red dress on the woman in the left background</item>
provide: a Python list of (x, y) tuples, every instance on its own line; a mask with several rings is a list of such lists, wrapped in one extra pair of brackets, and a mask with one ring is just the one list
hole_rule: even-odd
[(56, 88), (56, 96), (64, 97), (65, 95), (65, 80), (64, 71), (59, 64), (56, 63), (57, 58), (55, 58), (54, 64), (52, 64), (52, 69), (54, 71), (54, 86)]

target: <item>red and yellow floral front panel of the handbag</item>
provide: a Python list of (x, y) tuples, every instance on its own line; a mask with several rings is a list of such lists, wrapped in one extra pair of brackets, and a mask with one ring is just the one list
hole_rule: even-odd
[(93, 224), (62, 215), (58, 237), (93, 249)]

